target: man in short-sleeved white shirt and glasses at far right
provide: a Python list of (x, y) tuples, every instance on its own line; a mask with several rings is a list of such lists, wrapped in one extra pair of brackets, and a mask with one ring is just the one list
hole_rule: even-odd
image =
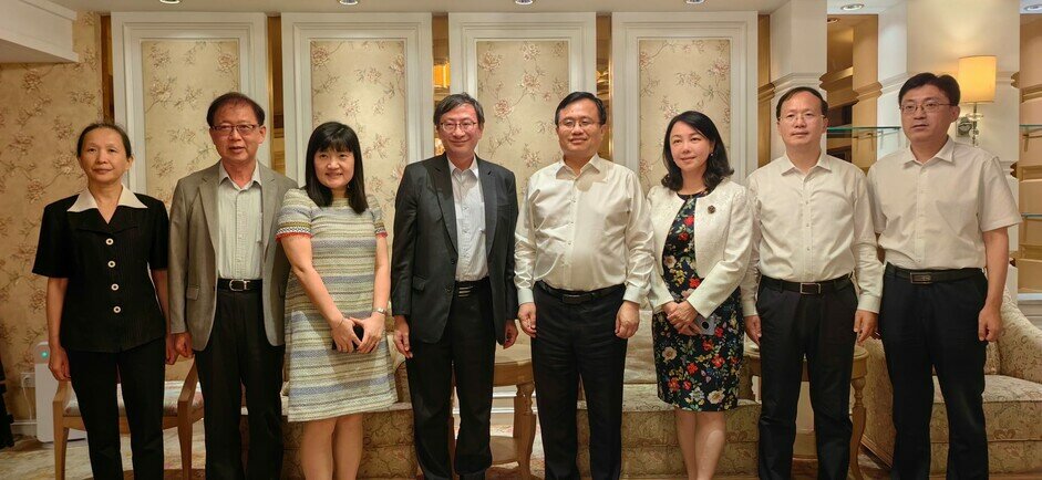
[(893, 472), (930, 473), (932, 368), (948, 410), (949, 478), (988, 478), (986, 347), (1002, 328), (1007, 229), (1020, 213), (998, 157), (948, 136), (960, 112), (953, 77), (915, 75), (898, 102), (910, 146), (868, 173), (886, 253), (879, 332), (894, 385)]

